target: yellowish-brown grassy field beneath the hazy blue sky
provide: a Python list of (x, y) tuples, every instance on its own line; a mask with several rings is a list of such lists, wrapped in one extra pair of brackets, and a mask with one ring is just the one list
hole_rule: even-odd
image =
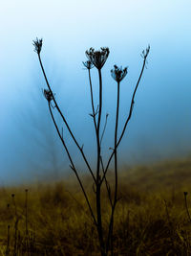
[[(84, 182), (94, 204), (93, 184), (87, 176)], [(115, 255), (191, 255), (184, 200), (187, 192), (191, 212), (191, 159), (124, 168), (119, 184)], [(1, 188), (0, 198), (0, 255), (99, 255), (95, 226), (73, 178)], [(107, 226), (104, 192), (102, 202)]]

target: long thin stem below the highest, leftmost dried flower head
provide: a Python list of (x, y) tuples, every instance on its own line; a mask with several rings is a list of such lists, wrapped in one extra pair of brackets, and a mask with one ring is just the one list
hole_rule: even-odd
[(59, 106), (57, 105), (57, 102), (56, 102), (55, 97), (54, 97), (54, 95), (53, 95), (52, 88), (51, 88), (50, 83), (49, 83), (49, 81), (48, 81), (48, 79), (47, 79), (47, 76), (46, 76), (46, 73), (45, 73), (45, 70), (44, 70), (44, 67), (43, 67), (43, 64), (42, 64), (42, 60), (41, 60), (40, 54), (38, 54), (38, 59), (39, 59), (40, 66), (41, 66), (41, 69), (42, 69), (42, 72), (43, 72), (45, 81), (46, 81), (46, 83), (47, 83), (47, 86), (48, 86), (50, 92), (52, 93), (52, 96), (53, 96), (53, 103), (54, 103), (54, 105), (55, 105), (57, 111), (59, 112), (59, 114), (60, 114), (62, 120), (64, 121), (66, 127), (68, 128), (68, 130), (69, 130), (69, 132), (70, 132), (70, 134), (71, 134), (71, 136), (72, 136), (72, 138), (73, 138), (73, 140), (74, 140), (74, 143), (75, 143), (76, 147), (77, 147), (78, 150), (81, 152), (82, 157), (83, 157), (83, 159), (84, 159), (84, 161), (85, 161), (85, 163), (86, 163), (86, 165), (87, 165), (87, 167), (88, 167), (88, 169), (89, 169), (91, 175), (93, 176), (94, 181), (96, 182), (96, 177), (95, 177), (95, 175), (94, 175), (93, 172), (92, 172), (92, 169), (91, 169), (91, 167), (90, 167), (90, 165), (89, 165), (89, 163), (88, 163), (88, 160), (87, 160), (87, 158), (86, 158), (86, 156), (85, 156), (85, 154), (84, 154), (83, 149), (82, 149), (82, 148), (79, 146), (79, 144), (77, 143), (77, 141), (76, 141), (76, 139), (75, 139), (75, 137), (74, 137), (74, 134), (73, 134), (71, 128), (69, 127), (69, 125), (68, 125), (68, 123), (67, 123), (67, 121), (66, 121), (64, 115), (62, 114), (62, 112), (61, 112)]

